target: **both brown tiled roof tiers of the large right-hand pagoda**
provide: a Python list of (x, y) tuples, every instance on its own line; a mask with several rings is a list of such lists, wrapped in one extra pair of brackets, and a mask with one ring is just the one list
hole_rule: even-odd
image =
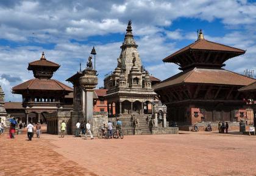
[(179, 69), (183, 72), (162, 81), (153, 88), (158, 90), (184, 83), (246, 86), (255, 79), (222, 69), (227, 59), (243, 55), (245, 52), (235, 47), (207, 41), (200, 30), (197, 41), (163, 59), (166, 63), (179, 65)]

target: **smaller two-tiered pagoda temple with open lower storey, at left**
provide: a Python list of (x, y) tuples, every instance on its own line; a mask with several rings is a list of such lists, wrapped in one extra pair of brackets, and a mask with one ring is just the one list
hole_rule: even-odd
[[(60, 65), (45, 58), (44, 52), (37, 61), (29, 63), (27, 70), (32, 70), (34, 79), (21, 83), (12, 88), (12, 92), (23, 96), (23, 107), (26, 119), (21, 121), (32, 121), (37, 123), (46, 122), (44, 115), (63, 110), (65, 95), (73, 92), (71, 87), (60, 81), (52, 80), (52, 75), (59, 69)], [(37, 118), (29, 116), (29, 113), (36, 114)]]

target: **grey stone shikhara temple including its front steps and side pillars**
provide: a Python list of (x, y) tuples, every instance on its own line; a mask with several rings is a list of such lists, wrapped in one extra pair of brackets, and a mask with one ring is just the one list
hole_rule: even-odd
[[(161, 114), (157, 111), (153, 117), (151, 116), (157, 94), (151, 87), (149, 72), (141, 63), (137, 50), (138, 45), (133, 39), (131, 24), (132, 22), (129, 21), (124, 42), (120, 47), (122, 50), (117, 59), (117, 67), (112, 74), (105, 76), (104, 79), (104, 87), (108, 89), (105, 96), (108, 102), (108, 119), (112, 117), (114, 122), (116, 118), (123, 121), (125, 134), (162, 133), (160, 128), (168, 128), (166, 128), (166, 123), (163, 123), (157, 129), (158, 123), (161, 123), (157, 119), (160, 115), (160, 119), (165, 121), (166, 111), (162, 110)], [(115, 104), (115, 114), (113, 114), (113, 104)], [(166, 108), (163, 107), (163, 109)], [(139, 121), (140, 125), (133, 123), (134, 118)], [(150, 127), (146, 119), (154, 119), (154, 125)], [(169, 130), (170, 133), (171, 130)], [(169, 132), (165, 130), (164, 133)]]

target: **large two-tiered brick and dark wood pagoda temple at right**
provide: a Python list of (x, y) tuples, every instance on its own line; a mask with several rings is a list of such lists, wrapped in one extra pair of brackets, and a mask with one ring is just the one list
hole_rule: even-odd
[(247, 118), (238, 89), (255, 79), (223, 68), (225, 61), (244, 53), (245, 50), (204, 39), (200, 30), (195, 42), (164, 58), (163, 62), (177, 64), (182, 70), (153, 87), (168, 107), (168, 121), (191, 126)]

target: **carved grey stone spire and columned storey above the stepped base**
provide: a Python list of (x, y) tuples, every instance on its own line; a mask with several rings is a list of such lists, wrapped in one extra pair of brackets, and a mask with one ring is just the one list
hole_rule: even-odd
[(108, 89), (108, 106), (113, 107), (115, 103), (116, 107), (115, 115), (112, 110), (108, 111), (109, 117), (130, 118), (131, 114), (143, 117), (144, 113), (149, 113), (147, 106), (152, 107), (156, 93), (151, 88), (148, 71), (141, 64), (137, 47), (133, 39), (132, 22), (129, 21), (117, 67), (104, 79), (105, 89)]

